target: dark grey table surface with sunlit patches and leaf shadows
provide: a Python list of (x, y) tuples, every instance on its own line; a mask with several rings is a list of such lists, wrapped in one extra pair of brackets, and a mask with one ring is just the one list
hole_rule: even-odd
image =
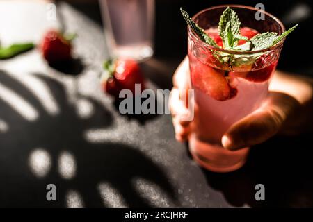
[[(156, 56), (141, 64), (154, 89), (170, 89), (186, 53), (184, 37), (172, 44), (161, 32), (158, 12), (174, 8), (165, 2), (157, 3)], [(62, 22), (47, 22), (44, 3), (0, 2), (2, 43), (38, 41), (61, 23), (79, 35), (67, 69), (49, 67), (37, 49), (0, 61), (0, 207), (313, 207), (311, 135), (255, 146), (238, 171), (205, 171), (175, 141), (169, 114), (121, 115), (102, 93), (107, 51), (97, 4), (60, 3), (58, 12)], [(48, 184), (57, 201), (47, 201)]]

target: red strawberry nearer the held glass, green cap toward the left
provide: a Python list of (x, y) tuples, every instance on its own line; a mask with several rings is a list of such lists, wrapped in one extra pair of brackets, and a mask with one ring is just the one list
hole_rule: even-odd
[(106, 60), (101, 84), (104, 92), (118, 98), (122, 89), (131, 90), (135, 95), (135, 84), (140, 84), (141, 91), (145, 89), (145, 80), (137, 62), (131, 59)]

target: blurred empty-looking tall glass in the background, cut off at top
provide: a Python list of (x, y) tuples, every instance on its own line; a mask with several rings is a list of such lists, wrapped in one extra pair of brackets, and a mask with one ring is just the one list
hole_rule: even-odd
[(154, 49), (154, 0), (99, 0), (113, 57), (144, 60)]

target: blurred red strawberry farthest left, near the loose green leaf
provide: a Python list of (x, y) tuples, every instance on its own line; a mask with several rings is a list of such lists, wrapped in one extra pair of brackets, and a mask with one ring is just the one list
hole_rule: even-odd
[(56, 30), (49, 30), (42, 39), (42, 56), (50, 65), (67, 62), (72, 59), (70, 40)]

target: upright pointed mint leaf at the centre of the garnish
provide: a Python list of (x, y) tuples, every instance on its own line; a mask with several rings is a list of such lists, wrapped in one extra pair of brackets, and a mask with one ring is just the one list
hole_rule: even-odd
[[(218, 34), (223, 40), (223, 44), (227, 44), (227, 42), (230, 42), (226, 37), (230, 35), (225, 35), (225, 32), (227, 31), (227, 24), (229, 23), (230, 31), (232, 32), (232, 35), (240, 35), (240, 26), (241, 23), (239, 21), (238, 16), (236, 15), (236, 12), (232, 10), (230, 7), (227, 7), (223, 14), (220, 16), (220, 22), (218, 23)], [(233, 42), (233, 41), (232, 41)]]

